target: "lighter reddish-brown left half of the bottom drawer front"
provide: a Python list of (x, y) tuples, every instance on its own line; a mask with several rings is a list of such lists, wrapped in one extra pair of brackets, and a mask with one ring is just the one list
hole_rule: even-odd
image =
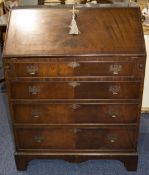
[(73, 129), (16, 129), (19, 148), (70, 149), (75, 148)]

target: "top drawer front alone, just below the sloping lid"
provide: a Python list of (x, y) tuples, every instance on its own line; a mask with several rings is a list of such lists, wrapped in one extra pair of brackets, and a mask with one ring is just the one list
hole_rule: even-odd
[(16, 77), (134, 76), (135, 62), (14, 63)]

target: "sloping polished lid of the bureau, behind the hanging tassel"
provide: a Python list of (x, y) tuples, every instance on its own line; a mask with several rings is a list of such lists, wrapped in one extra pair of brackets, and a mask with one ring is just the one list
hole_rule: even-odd
[(139, 8), (78, 8), (79, 35), (70, 35), (71, 8), (14, 9), (4, 57), (145, 55)]

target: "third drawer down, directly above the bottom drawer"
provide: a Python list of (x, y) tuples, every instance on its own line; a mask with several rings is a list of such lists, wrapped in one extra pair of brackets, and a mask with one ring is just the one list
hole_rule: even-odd
[(15, 123), (135, 123), (137, 104), (12, 104)]

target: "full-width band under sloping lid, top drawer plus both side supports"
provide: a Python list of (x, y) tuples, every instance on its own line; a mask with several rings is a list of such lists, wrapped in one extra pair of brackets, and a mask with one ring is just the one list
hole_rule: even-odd
[[(103, 61), (104, 60), (104, 61)], [(12, 58), (5, 61), (6, 78), (139, 78), (145, 69), (144, 57), (77, 56), (50, 58)]]

